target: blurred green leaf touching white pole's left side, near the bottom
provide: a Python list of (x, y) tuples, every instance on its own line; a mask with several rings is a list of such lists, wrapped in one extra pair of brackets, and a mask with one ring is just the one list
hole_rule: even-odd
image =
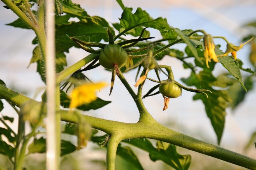
[(46, 152), (46, 140), (43, 137), (39, 139), (34, 138), (34, 141), (28, 146), (28, 154), (45, 153), (45, 152)]

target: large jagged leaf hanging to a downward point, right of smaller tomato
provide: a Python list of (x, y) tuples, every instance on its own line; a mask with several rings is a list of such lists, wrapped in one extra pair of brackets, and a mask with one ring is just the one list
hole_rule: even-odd
[[(187, 79), (181, 79), (188, 86), (196, 86), (198, 89), (207, 89), (212, 93), (208, 93), (208, 98), (203, 94), (196, 94), (193, 100), (201, 99), (205, 105), (205, 111), (207, 116), (211, 120), (211, 124), (218, 138), (218, 144), (220, 143), (224, 124), (226, 108), (231, 103), (231, 98), (228, 95), (227, 90), (214, 90), (212, 85), (218, 85), (224, 87), (227, 83), (218, 82), (210, 70), (200, 71), (199, 74), (191, 73)], [(221, 79), (219, 79), (222, 81)]]

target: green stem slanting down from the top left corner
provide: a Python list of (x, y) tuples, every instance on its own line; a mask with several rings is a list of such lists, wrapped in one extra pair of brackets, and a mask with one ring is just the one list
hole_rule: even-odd
[(32, 30), (36, 30), (37, 26), (29, 17), (24, 14), (11, 0), (1, 0), (5, 5), (7, 5), (20, 19), (26, 23)]

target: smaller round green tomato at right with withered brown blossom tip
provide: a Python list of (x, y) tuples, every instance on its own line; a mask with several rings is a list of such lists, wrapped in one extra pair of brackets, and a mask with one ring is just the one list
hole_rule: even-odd
[(175, 83), (161, 84), (159, 91), (162, 95), (169, 98), (177, 98), (181, 95), (181, 88)]

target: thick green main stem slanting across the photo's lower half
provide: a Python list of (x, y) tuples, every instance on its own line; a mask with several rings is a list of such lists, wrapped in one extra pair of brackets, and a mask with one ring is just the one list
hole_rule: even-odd
[[(0, 85), (0, 97), (6, 99), (13, 104), (16, 104), (17, 106), (20, 106), (26, 101), (32, 100), (2, 85)], [(45, 113), (45, 110), (43, 110), (43, 112)], [(79, 121), (75, 114), (71, 114), (67, 110), (60, 110), (60, 113), (61, 119), (63, 121), (70, 123), (77, 123)], [(120, 135), (119, 137), (121, 140), (131, 138), (156, 139), (186, 149), (190, 149), (211, 157), (215, 157), (245, 168), (256, 170), (255, 159), (189, 137), (182, 133), (171, 130), (157, 123), (156, 121), (122, 123), (86, 115), (83, 115), (83, 117), (88, 123), (92, 125), (93, 128), (102, 130), (108, 134), (118, 134)]]

